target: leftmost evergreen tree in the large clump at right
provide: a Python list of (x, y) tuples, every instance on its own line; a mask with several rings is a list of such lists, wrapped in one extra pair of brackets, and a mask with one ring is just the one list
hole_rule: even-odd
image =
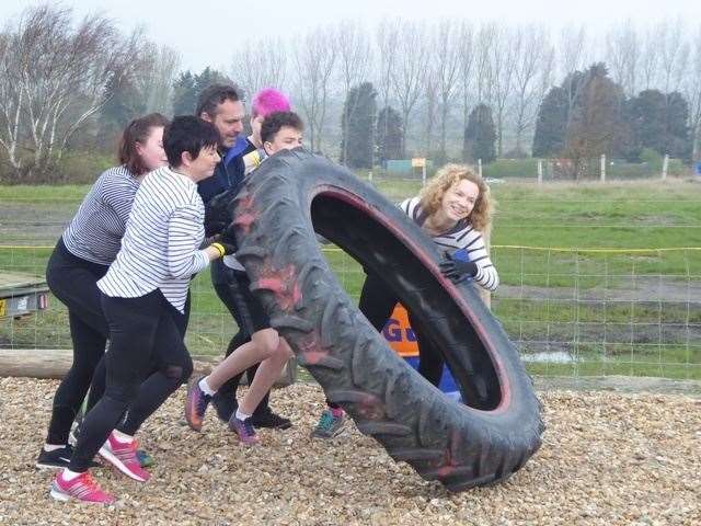
[(568, 99), (564, 88), (552, 88), (538, 108), (533, 157), (559, 156), (565, 146)]

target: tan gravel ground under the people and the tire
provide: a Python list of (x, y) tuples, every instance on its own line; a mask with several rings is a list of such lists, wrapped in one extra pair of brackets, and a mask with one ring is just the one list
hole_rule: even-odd
[(273, 395), (295, 426), (240, 446), (208, 414), (194, 433), (181, 389), (143, 427), (157, 458), (147, 484), (95, 470), (119, 496), (100, 507), (51, 501), (34, 469), (56, 382), (0, 378), (0, 524), (700, 525), (701, 400), (679, 395), (541, 392), (548, 431), (521, 471), (494, 487), (449, 494), (394, 464), (354, 427), (332, 442), (308, 433), (317, 386)]

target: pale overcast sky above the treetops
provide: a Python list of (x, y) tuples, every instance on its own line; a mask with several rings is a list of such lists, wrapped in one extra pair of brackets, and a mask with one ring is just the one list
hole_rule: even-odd
[[(0, 21), (37, 3), (44, 2), (1, 0)], [(94, 12), (96, 3), (61, 2), (79, 15)], [(343, 19), (361, 20), (369, 26), (386, 16), (401, 16), (427, 21), (458, 18), (474, 22), (543, 22), (555, 27), (586, 23), (594, 30), (604, 30), (625, 19), (647, 24), (660, 18), (682, 16), (690, 24), (701, 25), (698, 0), (102, 0), (100, 3), (101, 11), (125, 31), (145, 25), (152, 41), (181, 53), (183, 69), (195, 71), (207, 65), (228, 71), (232, 50), (248, 38), (291, 36)], [(180, 5), (187, 7), (179, 9)]]

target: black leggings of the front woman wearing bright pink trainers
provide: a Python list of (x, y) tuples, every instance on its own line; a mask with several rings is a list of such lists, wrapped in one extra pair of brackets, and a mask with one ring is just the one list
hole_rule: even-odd
[[(139, 298), (111, 298), (101, 304), (110, 325), (104, 396), (88, 412), (69, 469), (85, 471), (114, 428), (134, 432), (192, 374), (183, 342), (186, 317), (154, 290)], [(157, 350), (168, 350), (172, 364), (147, 378)], [(177, 359), (175, 359), (177, 357)], [(128, 409), (128, 412), (127, 412)], [(126, 418), (125, 418), (125, 413)]]

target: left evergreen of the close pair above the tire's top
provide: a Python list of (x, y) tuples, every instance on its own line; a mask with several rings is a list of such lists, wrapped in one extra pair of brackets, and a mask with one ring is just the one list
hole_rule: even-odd
[(350, 89), (341, 115), (341, 162), (349, 168), (372, 168), (377, 92), (371, 82)]

